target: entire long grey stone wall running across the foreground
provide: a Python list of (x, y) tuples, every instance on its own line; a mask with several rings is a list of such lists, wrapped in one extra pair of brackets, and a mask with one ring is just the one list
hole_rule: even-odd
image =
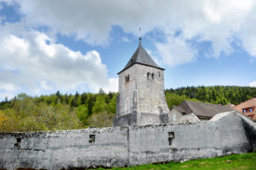
[(236, 112), (209, 122), (0, 134), (0, 169), (115, 167), (255, 150), (256, 123)]

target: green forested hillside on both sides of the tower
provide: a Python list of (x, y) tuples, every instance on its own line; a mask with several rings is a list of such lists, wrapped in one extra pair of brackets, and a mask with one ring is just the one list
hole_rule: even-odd
[[(165, 91), (169, 109), (183, 100), (237, 105), (256, 98), (256, 87), (188, 86)], [(0, 102), (0, 132), (47, 131), (111, 126), (117, 93), (56, 94), (30, 97), (20, 94)]]

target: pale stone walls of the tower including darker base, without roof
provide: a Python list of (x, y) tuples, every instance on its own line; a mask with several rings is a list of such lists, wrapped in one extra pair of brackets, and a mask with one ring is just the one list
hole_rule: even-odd
[[(147, 79), (147, 73), (150, 73), (150, 79)], [(152, 74), (154, 73), (154, 79)], [(129, 75), (129, 81), (126, 76)], [(119, 96), (117, 98), (117, 110), (115, 125), (130, 125), (126, 122), (133, 120), (124, 120), (127, 114), (138, 114), (134, 124), (163, 124), (159, 114), (168, 114), (168, 105), (164, 92), (164, 71), (154, 67), (134, 64), (124, 72), (119, 74)], [(141, 115), (140, 115), (141, 114)], [(145, 114), (148, 114), (144, 116)], [(155, 115), (154, 115), (155, 114)], [(118, 119), (118, 117), (123, 118)], [(143, 119), (146, 117), (146, 119)], [(124, 120), (124, 121), (123, 121)], [(125, 123), (125, 124), (121, 124)], [(169, 121), (168, 121), (169, 122)]]

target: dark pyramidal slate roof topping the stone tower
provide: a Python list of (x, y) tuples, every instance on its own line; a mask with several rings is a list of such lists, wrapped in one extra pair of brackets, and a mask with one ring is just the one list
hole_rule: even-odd
[[(135, 53), (132, 55), (131, 59), (128, 60), (128, 64), (126, 65), (126, 67), (121, 72), (124, 72), (135, 63), (164, 70), (163, 68), (160, 68), (159, 66), (157, 66), (155, 61), (149, 56), (149, 54), (146, 52), (143, 46), (141, 46), (141, 38), (140, 38), (140, 45), (136, 49)], [(118, 72), (118, 74), (121, 72)]]

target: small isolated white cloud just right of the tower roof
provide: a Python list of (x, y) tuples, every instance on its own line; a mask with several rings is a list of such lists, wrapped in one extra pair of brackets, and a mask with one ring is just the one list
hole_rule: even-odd
[(167, 43), (156, 43), (155, 46), (169, 67), (195, 60), (196, 51), (181, 37), (169, 37)]

